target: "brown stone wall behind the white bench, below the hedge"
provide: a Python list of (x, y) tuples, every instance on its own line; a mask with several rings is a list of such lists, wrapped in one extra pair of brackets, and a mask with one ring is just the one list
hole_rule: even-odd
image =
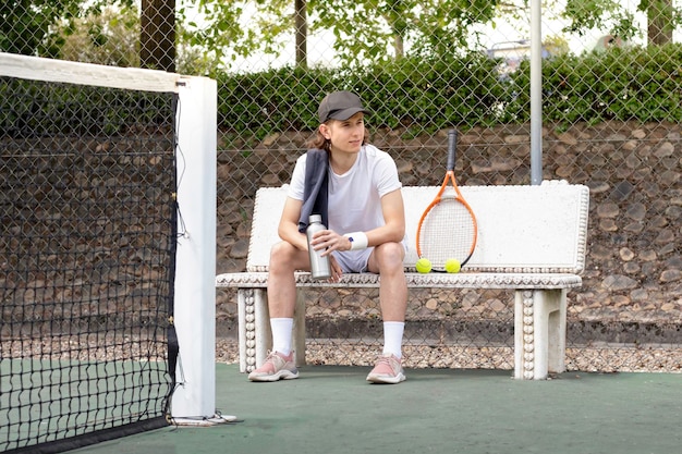
[[(584, 284), (569, 293), (570, 318), (598, 321), (682, 324), (682, 127), (679, 124), (600, 123), (544, 130), (544, 177), (586, 184), (590, 188), (588, 256)], [(440, 184), (442, 163), (436, 137), (405, 139), (401, 132), (377, 132), (373, 143), (397, 157), (405, 185)], [(268, 137), (245, 162), (219, 157), (218, 272), (242, 271), (248, 245), (253, 201), (243, 198), (255, 186), (287, 183), (288, 171), (305, 149), (305, 134)], [(292, 148), (292, 144), (294, 147)], [(297, 149), (296, 149), (297, 148)], [(395, 150), (395, 151), (394, 151)], [(527, 125), (476, 128), (461, 134), (458, 177), (461, 184), (528, 184)], [(243, 158), (243, 157), (242, 157)], [(264, 164), (261, 173), (254, 171)], [(240, 183), (243, 181), (244, 183)], [(273, 213), (273, 223), (279, 213)], [(378, 317), (374, 291), (332, 291), (310, 295), (308, 316)], [(423, 292), (411, 294), (410, 317), (442, 319), (508, 317), (511, 295), (498, 291)], [(219, 326), (230, 327), (236, 312), (234, 294), (219, 291)]]

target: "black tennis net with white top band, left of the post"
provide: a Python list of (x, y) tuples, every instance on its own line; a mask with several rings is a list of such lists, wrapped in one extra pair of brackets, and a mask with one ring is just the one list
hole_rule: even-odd
[(0, 452), (168, 424), (176, 78), (0, 53)]

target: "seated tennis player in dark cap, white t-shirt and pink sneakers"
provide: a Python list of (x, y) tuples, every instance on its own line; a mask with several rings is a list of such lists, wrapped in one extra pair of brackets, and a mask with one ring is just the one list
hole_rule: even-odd
[(365, 113), (361, 99), (350, 91), (331, 93), (319, 105), (314, 149), (296, 161), (278, 229), (282, 241), (270, 253), (267, 285), (272, 351), (265, 364), (248, 375), (252, 381), (299, 378), (291, 348), (294, 271), (310, 269), (305, 229), (313, 212), (321, 214), (328, 225), (312, 245), (330, 257), (332, 281), (343, 272), (381, 275), (383, 352), (367, 381), (405, 380), (401, 358), (407, 285), (401, 183), (393, 159), (367, 144)]

